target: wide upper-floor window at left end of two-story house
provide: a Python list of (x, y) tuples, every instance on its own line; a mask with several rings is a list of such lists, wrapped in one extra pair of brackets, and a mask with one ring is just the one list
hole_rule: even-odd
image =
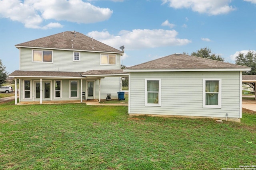
[(52, 51), (33, 50), (33, 61), (52, 62)]

